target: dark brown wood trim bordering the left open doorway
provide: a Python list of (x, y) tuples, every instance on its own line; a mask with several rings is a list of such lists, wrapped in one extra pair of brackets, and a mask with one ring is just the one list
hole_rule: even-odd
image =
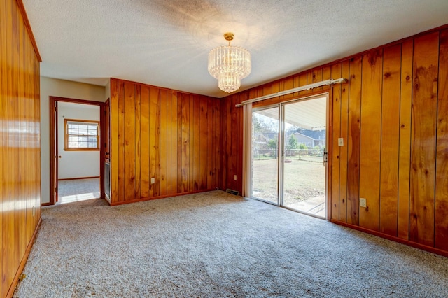
[[(99, 127), (103, 127), (102, 121), (104, 121), (104, 102), (102, 101), (90, 101), (90, 100), (83, 100), (83, 99), (72, 99), (68, 97), (52, 97), (50, 96), (50, 203), (49, 204), (41, 204), (41, 206), (50, 206), (55, 204), (55, 197), (54, 197), (54, 189), (55, 189), (55, 159), (53, 157), (53, 152), (55, 152), (55, 117), (53, 116), (55, 111), (55, 102), (62, 101), (62, 102), (71, 102), (73, 104), (90, 104), (92, 106), (99, 106)], [(100, 134), (99, 136), (99, 143), (104, 143), (104, 134)], [(102, 177), (104, 176), (104, 148), (103, 146), (100, 146), (99, 150), (99, 192), (102, 194), (102, 197), (104, 197), (104, 179)]]

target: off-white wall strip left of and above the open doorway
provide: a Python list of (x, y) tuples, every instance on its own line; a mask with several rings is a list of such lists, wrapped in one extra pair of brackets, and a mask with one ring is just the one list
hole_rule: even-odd
[(103, 86), (41, 77), (41, 203), (50, 202), (50, 96), (104, 102)]

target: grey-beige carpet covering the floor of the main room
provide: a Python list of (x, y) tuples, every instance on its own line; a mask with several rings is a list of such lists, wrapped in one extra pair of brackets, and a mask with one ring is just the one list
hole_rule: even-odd
[(45, 207), (15, 297), (448, 297), (448, 258), (222, 191)]

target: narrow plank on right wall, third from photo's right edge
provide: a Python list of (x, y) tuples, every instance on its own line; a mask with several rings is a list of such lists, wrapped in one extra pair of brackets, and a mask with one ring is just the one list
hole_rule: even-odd
[(409, 179), (411, 158), (412, 56), (414, 42), (401, 50), (400, 152), (398, 157), (398, 237), (409, 239)]

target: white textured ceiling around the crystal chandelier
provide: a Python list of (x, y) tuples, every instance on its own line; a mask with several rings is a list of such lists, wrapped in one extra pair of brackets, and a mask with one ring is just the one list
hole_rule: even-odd
[(245, 90), (448, 23), (447, 0), (23, 0), (41, 75), (224, 97), (209, 50), (252, 54)]

